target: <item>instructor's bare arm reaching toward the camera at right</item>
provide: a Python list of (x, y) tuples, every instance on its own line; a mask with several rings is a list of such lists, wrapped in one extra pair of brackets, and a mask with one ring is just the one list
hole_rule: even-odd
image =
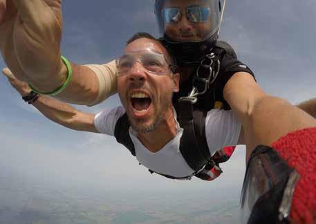
[(225, 84), (224, 97), (243, 125), (247, 161), (258, 144), (270, 145), (286, 133), (316, 127), (315, 118), (264, 93), (248, 73), (234, 74)]

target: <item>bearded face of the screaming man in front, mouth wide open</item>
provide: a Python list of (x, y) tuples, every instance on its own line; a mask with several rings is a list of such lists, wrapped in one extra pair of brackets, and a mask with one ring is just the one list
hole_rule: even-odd
[[(142, 133), (153, 131), (165, 120), (166, 112), (172, 109), (172, 93), (178, 91), (178, 74), (172, 75), (169, 67), (168, 73), (163, 75), (150, 71), (152, 67), (147, 65), (156, 64), (154, 59), (150, 62), (144, 59), (147, 56), (142, 55), (142, 52), (148, 50), (158, 53), (165, 60), (163, 55), (167, 55), (167, 51), (157, 41), (136, 39), (125, 49), (127, 57), (124, 57), (126, 61), (122, 62), (124, 73), (118, 77), (118, 94), (122, 105), (133, 129)], [(134, 55), (137, 55), (136, 59), (129, 59)], [(120, 67), (118, 70), (120, 72)]]

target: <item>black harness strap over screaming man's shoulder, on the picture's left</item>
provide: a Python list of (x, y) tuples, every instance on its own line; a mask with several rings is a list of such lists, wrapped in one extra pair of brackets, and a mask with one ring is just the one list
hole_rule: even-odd
[(124, 113), (124, 115), (122, 115), (115, 124), (114, 136), (120, 144), (123, 144), (127, 147), (127, 149), (129, 149), (133, 156), (136, 156), (133, 141), (131, 140), (131, 136), (129, 136), (130, 126), (127, 113)]

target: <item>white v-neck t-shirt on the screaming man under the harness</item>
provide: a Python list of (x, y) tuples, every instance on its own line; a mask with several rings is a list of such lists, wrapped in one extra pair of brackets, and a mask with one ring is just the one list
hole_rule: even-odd
[[(125, 110), (122, 106), (97, 113), (94, 120), (95, 128), (100, 133), (114, 136), (115, 124), (124, 113)], [(174, 111), (174, 118), (176, 120), (176, 111)], [(158, 152), (153, 153), (138, 140), (136, 131), (130, 127), (129, 136), (140, 164), (159, 174), (167, 174), (176, 178), (191, 176), (194, 170), (187, 165), (179, 150), (183, 129), (180, 128), (178, 122), (176, 122), (176, 129), (176, 137), (167, 142)], [(240, 131), (241, 124), (233, 111), (219, 109), (209, 111), (205, 119), (205, 135), (211, 155), (223, 147), (236, 145)]]

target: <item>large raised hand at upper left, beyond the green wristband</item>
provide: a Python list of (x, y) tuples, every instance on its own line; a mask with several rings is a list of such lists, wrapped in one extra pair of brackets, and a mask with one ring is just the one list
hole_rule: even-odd
[(62, 0), (0, 0), (3, 59), (19, 80), (40, 84), (39, 91), (54, 91), (66, 80), (61, 7)]

